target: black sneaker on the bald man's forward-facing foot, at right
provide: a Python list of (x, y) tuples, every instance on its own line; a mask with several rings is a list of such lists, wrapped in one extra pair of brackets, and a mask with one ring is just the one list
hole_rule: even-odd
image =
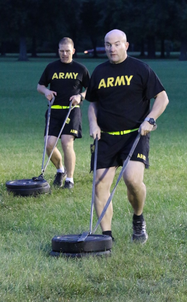
[(148, 238), (145, 220), (133, 220), (132, 228), (132, 241), (145, 243)]

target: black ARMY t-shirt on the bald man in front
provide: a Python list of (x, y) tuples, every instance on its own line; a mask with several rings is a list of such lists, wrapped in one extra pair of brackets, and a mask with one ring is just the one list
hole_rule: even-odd
[(103, 131), (140, 126), (150, 112), (150, 99), (165, 90), (144, 62), (127, 56), (119, 64), (97, 66), (87, 88), (86, 100), (98, 102), (97, 123)]

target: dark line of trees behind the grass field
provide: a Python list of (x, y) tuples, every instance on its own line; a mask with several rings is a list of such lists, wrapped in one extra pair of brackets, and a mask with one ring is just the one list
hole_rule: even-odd
[(169, 42), (187, 60), (187, 0), (0, 0), (1, 54), (18, 47), (19, 60), (37, 52), (54, 52), (62, 37), (71, 37), (76, 50), (103, 46), (105, 34), (125, 31), (132, 50), (155, 57), (169, 56)]

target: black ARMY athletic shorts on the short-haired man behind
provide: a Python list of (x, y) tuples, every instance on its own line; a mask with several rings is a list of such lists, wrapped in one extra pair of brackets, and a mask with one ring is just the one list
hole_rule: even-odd
[[(51, 109), (50, 119), (49, 119), (49, 132), (48, 135), (53, 135), (55, 137), (59, 136), (62, 125), (68, 114), (69, 109)], [(46, 111), (46, 125), (47, 125), (47, 114)], [(82, 114), (79, 107), (75, 107), (70, 111), (67, 122), (62, 130), (62, 134), (73, 135), (74, 138), (82, 137)], [(46, 127), (44, 136), (46, 135)]]

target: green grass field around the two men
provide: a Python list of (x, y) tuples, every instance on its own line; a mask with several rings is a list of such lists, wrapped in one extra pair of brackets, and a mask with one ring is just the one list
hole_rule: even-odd
[[(151, 134), (150, 169), (145, 171), (144, 217), (149, 239), (131, 243), (132, 208), (121, 181), (113, 198), (113, 236), (109, 258), (55, 259), (49, 256), (57, 234), (89, 230), (92, 175), (87, 121), (82, 107), (83, 138), (76, 140), (73, 191), (18, 197), (7, 180), (41, 173), (45, 97), (36, 86), (52, 58), (0, 58), (0, 302), (186, 302), (186, 70), (187, 62), (145, 60), (157, 73), (170, 103)], [(90, 73), (103, 59), (78, 59)], [(55, 169), (45, 179), (52, 185)], [(117, 175), (116, 175), (117, 178)], [(94, 213), (93, 226), (96, 223)], [(100, 234), (100, 227), (96, 233)]]

